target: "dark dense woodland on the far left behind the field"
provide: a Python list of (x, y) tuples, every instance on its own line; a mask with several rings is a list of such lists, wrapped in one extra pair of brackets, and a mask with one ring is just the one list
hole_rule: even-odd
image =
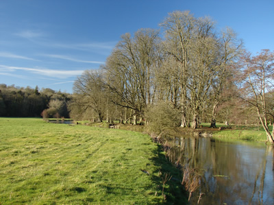
[(38, 90), (36, 86), (15, 87), (0, 85), (0, 116), (2, 117), (47, 117), (69, 118), (68, 104), (71, 94), (55, 92), (49, 88)]

